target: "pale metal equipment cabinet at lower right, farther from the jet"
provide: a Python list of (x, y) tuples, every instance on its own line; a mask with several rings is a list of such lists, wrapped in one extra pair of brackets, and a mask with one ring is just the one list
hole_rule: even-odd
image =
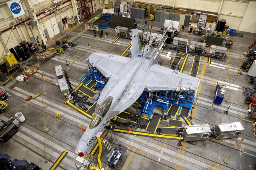
[(220, 123), (215, 128), (215, 135), (218, 139), (234, 138), (240, 136), (244, 127), (240, 122)]

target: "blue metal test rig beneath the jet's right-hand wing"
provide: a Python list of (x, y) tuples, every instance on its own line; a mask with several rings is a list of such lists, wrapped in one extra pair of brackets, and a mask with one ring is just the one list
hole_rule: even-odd
[(142, 103), (142, 109), (140, 109), (138, 115), (146, 113), (148, 115), (148, 119), (150, 119), (156, 106), (160, 106), (165, 111), (168, 111), (171, 105), (176, 105), (179, 107), (177, 115), (180, 115), (182, 107), (185, 107), (189, 109), (187, 117), (190, 117), (190, 113), (193, 108), (194, 98), (194, 91), (192, 91), (191, 89), (178, 88), (173, 91), (144, 91), (140, 96), (140, 103)]

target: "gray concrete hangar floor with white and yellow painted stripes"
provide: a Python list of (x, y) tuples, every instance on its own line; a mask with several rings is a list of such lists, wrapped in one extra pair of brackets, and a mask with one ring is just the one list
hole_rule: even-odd
[[(140, 28), (143, 23), (144, 20), (140, 20), (138, 27)], [(154, 22), (152, 32), (159, 33), (160, 26), (160, 23)], [(112, 43), (116, 38), (114, 29), (108, 28), (107, 31), (108, 36), (106, 39), (101, 38), (99, 45), (93, 34), (85, 32), (84, 25), (82, 26), (82, 31), (80, 26), (68, 31), (68, 39), (78, 42), (78, 45), (72, 48), (70, 53), (65, 53), (68, 62), (76, 59), (72, 65), (66, 66), (63, 56), (55, 56), (46, 63), (40, 63), (41, 68), (39, 71), (29, 77), (27, 82), (11, 82), (5, 86), (11, 97), (7, 101), (9, 106), (3, 114), (6, 117), (12, 117), (16, 112), (21, 111), (26, 117), (26, 121), (21, 123), (19, 131), (8, 142), (0, 143), (1, 153), (7, 153), (12, 158), (18, 160), (34, 162), (42, 169), (49, 169), (62, 151), (67, 150), (68, 155), (64, 158), (58, 169), (76, 169), (74, 163), (80, 163), (76, 161), (77, 154), (75, 154), (74, 148), (83, 134), (81, 128), (88, 126), (90, 120), (64, 104), (65, 99), (62, 97), (59, 87), (51, 84), (52, 80), (56, 78), (54, 66), (56, 63), (62, 65), (62, 68), (66, 70), (70, 77), (72, 86), (76, 87), (87, 69), (87, 64), (81, 63), (92, 52), (99, 51), (120, 55), (130, 44), (130, 40), (121, 38), (116, 43)], [(61, 33), (56, 37), (59, 37), (62, 41), (65, 36), (65, 33)], [(199, 40), (198, 36), (191, 36), (186, 30), (180, 33), (178, 37)], [(112, 146), (120, 143), (128, 147), (128, 151), (122, 158), (119, 169), (195, 170), (207, 169), (212, 165), (214, 165), (213, 169), (222, 170), (256, 169), (256, 137), (252, 134), (251, 121), (246, 117), (248, 105), (245, 103), (245, 96), (242, 95), (243, 87), (252, 87), (252, 85), (248, 83), (249, 77), (247, 77), (246, 73), (243, 73), (240, 77), (236, 76), (238, 64), (243, 57), (242, 54), (255, 39), (256, 36), (249, 33), (244, 33), (244, 38), (232, 37), (234, 45), (228, 55), (230, 56), (228, 70), (225, 69), (228, 58), (224, 60), (212, 59), (212, 64), (208, 65), (207, 58), (202, 57), (198, 72), (198, 78), (201, 79), (202, 83), (198, 89), (197, 105), (194, 111), (192, 111), (192, 122), (195, 125), (214, 125), (242, 121), (245, 130), (240, 138), (228, 140), (210, 139), (200, 141), (197, 145), (182, 142), (182, 146), (177, 146), (177, 140), (113, 133), (112, 137), (114, 141)], [(90, 44), (90, 49), (88, 43)], [(77, 51), (80, 57), (77, 57)], [(166, 54), (167, 52), (166, 50), (161, 51), (162, 54)], [(174, 57), (175, 53), (175, 51), (172, 51), (171, 56)], [(170, 67), (170, 61), (166, 61), (165, 59), (160, 60), (163, 61), (163, 65)], [(193, 56), (189, 55), (184, 73), (190, 73), (192, 61)], [(26, 65), (31, 66), (37, 62), (34, 59), (26, 63)], [(46, 81), (42, 81), (36, 77), (42, 72), (44, 72)], [(223, 111), (226, 111), (228, 104), (223, 102), (221, 105), (215, 105), (213, 104), (213, 99), (216, 81), (224, 81), (228, 74), (229, 78), (228, 82), (226, 82), (225, 99), (231, 95), (232, 107), (230, 107), (229, 113), (226, 115)], [(44, 101), (48, 107), (42, 107), (42, 97), (38, 97), (28, 105), (25, 105), (26, 96), (42, 92), (42, 86), (47, 93), (44, 96)], [(55, 116), (56, 113), (61, 113), (63, 116), (57, 118)], [(50, 129), (47, 133), (44, 132), (43, 124)], [(166, 122), (161, 121), (160, 124), (164, 125)], [(184, 122), (183, 125), (185, 125)], [(239, 147), (236, 145), (236, 142), (241, 138), (244, 138), (244, 140), (242, 146)], [(50, 154), (52, 158), (46, 160), (44, 152)], [(106, 162), (109, 155), (110, 153), (103, 146), (103, 167), (107, 166)], [(230, 162), (224, 164), (223, 159), (229, 155), (231, 156)]]

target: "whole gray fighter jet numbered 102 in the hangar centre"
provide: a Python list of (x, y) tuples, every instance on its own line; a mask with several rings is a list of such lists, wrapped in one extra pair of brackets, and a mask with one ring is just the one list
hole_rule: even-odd
[(163, 43), (156, 48), (150, 42), (142, 49), (136, 29), (132, 34), (131, 57), (97, 52), (88, 57), (90, 65), (108, 78), (108, 82), (100, 93), (90, 125), (76, 146), (78, 155), (86, 154), (106, 123), (130, 107), (143, 91), (187, 89), (196, 94), (199, 79), (158, 65), (156, 59)]

